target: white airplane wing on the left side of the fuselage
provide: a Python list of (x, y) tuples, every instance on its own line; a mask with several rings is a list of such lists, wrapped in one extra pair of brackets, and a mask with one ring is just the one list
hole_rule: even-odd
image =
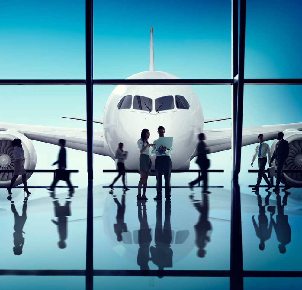
[[(87, 151), (85, 129), (0, 123), (0, 131), (8, 129), (19, 131), (28, 139), (44, 143), (57, 144), (59, 139), (65, 139), (66, 147)], [(93, 145), (93, 153), (110, 156), (110, 150), (103, 131), (93, 131)]]

